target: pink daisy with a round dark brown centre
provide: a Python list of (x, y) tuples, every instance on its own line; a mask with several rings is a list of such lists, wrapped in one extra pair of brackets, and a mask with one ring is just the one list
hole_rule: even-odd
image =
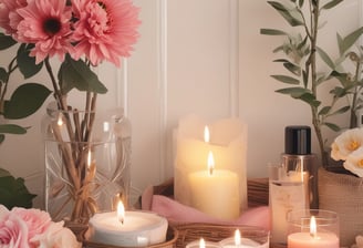
[(35, 56), (37, 63), (55, 54), (63, 61), (64, 54), (73, 51), (72, 12), (65, 0), (33, 0), (18, 13), (23, 18), (18, 25), (18, 40), (34, 43), (30, 55)]

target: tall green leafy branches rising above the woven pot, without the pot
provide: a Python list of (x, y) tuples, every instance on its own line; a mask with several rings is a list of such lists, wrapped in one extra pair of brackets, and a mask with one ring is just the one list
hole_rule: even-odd
[[(268, 1), (293, 28), (293, 31), (261, 29), (262, 34), (286, 38), (283, 43), (273, 50), (274, 53), (282, 52), (283, 58), (273, 62), (282, 64), (288, 73), (271, 76), (287, 85), (277, 92), (302, 101), (310, 107), (323, 166), (329, 164), (329, 153), (326, 153), (322, 130), (328, 127), (334, 132), (341, 131), (342, 125), (333, 123), (331, 117), (345, 113), (350, 113), (350, 127), (354, 127), (356, 125), (355, 112), (362, 107), (360, 97), (363, 85), (362, 50), (354, 45), (363, 33), (363, 28), (345, 37), (336, 33), (338, 58), (330, 56), (318, 44), (319, 31), (322, 29), (321, 25), (325, 24), (320, 20), (321, 16), (341, 2), (342, 0)], [(321, 70), (320, 60), (328, 65), (329, 70)], [(349, 62), (351, 64), (346, 65)], [(348, 70), (346, 66), (350, 69)], [(326, 92), (318, 91), (323, 84), (330, 84), (331, 101), (329, 103), (322, 101)]]

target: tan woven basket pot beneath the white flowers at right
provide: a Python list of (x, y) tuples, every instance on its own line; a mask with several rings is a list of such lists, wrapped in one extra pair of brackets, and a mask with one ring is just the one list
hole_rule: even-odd
[(319, 170), (319, 208), (336, 211), (341, 246), (363, 235), (363, 178)]

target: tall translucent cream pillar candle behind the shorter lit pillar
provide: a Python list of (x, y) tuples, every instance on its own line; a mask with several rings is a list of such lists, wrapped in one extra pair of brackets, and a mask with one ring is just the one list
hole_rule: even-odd
[[(209, 141), (205, 141), (204, 130), (209, 127)], [(188, 176), (205, 170), (206, 157), (212, 152), (218, 169), (236, 173), (239, 178), (241, 210), (247, 209), (247, 125), (237, 118), (206, 123), (197, 116), (179, 121), (175, 132), (175, 199), (191, 206)]]

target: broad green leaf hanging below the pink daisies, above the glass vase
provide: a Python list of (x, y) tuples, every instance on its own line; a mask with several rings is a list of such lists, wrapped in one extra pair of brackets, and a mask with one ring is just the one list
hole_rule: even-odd
[(58, 74), (61, 90), (66, 94), (72, 89), (104, 94), (107, 89), (98, 80), (97, 75), (84, 61), (74, 61), (70, 55), (65, 56)]

